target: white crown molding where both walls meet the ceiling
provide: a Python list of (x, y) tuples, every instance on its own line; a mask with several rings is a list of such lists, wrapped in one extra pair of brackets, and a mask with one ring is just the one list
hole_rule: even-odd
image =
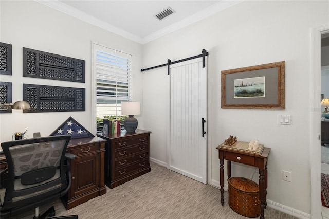
[(172, 24), (166, 28), (163, 28), (157, 32), (154, 32), (148, 36), (145, 36), (144, 38), (141, 38), (135, 34), (132, 34), (130, 32), (127, 32), (123, 29), (120, 29), (116, 26), (113, 26), (111, 24), (108, 24), (100, 19), (97, 19), (94, 16), (91, 16), (83, 11), (80, 11), (74, 7), (71, 7), (69, 5), (66, 5), (58, 0), (34, 0), (35, 2), (41, 3), (43, 5), (46, 5), (50, 8), (56, 9), (58, 11), (61, 11), (65, 14), (68, 14), (70, 16), (76, 17), (77, 19), (84, 21), (86, 23), (95, 25), (97, 27), (100, 27), (104, 30), (107, 30), (109, 32), (115, 33), (117, 35), (120, 35), (124, 38), (127, 38), (129, 40), (135, 41), (137, 43), (140, 44), (145, 44), (145, 43), (149, 43), (153, 40), (156, 40), (158, 38), (160, 38), (161, 36), (167, 35), (171, 32), (174, 32), (176, 30), (179, 30), (183, 27), (186, 27), (190, 24), (196, 23), (200, 20), (205, 19), (206, 17), (209, 17), (215, 13), (218, 13), (220, 11), (223, 11), (229, 7), (232, 7), (236, 4), (239, 4), (245, 0), (230, 0), (230, 1), (220, 1), (214, 5), (212, 5), (211, 7), (208, 7), (190, 17), (187, 17), (184, 20), (181, 20), (175, 24)]

